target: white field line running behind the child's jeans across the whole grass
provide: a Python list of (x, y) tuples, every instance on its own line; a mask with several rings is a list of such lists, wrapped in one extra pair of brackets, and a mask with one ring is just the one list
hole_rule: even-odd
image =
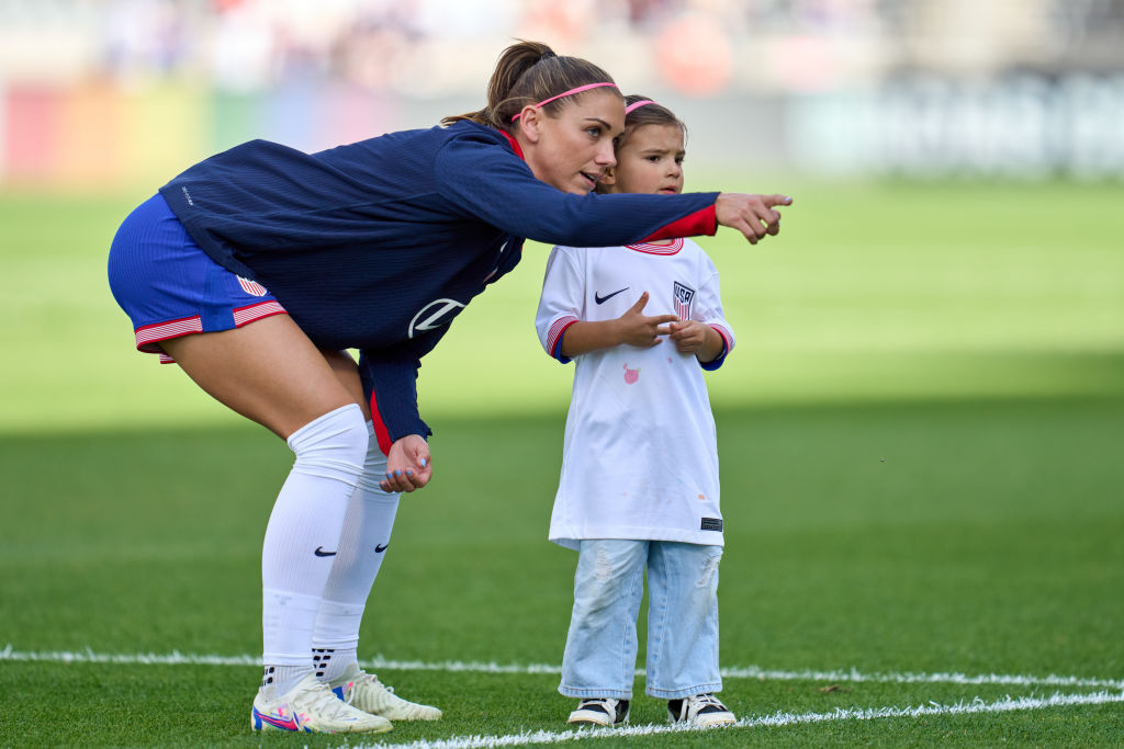
[[(261, 666), (261, 656), (215, 656), (193, 655), (172, 650), (167, 654), (156, 652), (94, 652), (93, 650), (49, 650), (28, 651), (16, 650), (11, 645), (0, 650), (0, 661), (42, 661), (56, 664), (121, 664), (121, 665), (157, 665), (157, 666)], [(422, 661), (422, 660), (391, 660), (383, 657), (375, 657), (361, 660), (364, 668), (375, 670), (405, 670), (420, 672), (435, 670), (446, 673), (466, 672), (474, 674), (559, 674), (560, 666), (549, 664), (497, 664), (483, 661)], [(643, 675), (644, 669), (637, 669), (637, 675)], [(958, 673), (913, 673), (913, 672), (889, 672), (889, 673), (863, 673), (856, 669), (850, 670), (776, 670), (759, 668), (756, 666), (737, 666), (723, 668), (724, 678), (754, 678), (761, 681), (777, 682), (874, 682), (886, 684), (996, 684), (1010, 686), (1069, 686), (1069, 687), (1098, 687), (1107, 689), (1124, 691), (1124, 678), (1107, 679), (1081, 676), (1030, 676), (1012, 674), (979, 674), (970, 676)]]

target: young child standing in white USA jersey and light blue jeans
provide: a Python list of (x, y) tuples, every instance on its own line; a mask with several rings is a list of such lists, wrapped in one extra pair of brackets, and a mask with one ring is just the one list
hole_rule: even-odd
[[(625, 99), (601, 192), (678, 194), (682, 122)], [(550, 539), (577, 549), (559, 692), (570, 723), (627, 722), (647, 568), (646, 693), (672, 722), (733, 723), (718, 673), (722, 511), (703, 369), (734, 346), (718, 273), (690, 239), (554, 247), (535, 319), (546, 351), (577, 360)]]

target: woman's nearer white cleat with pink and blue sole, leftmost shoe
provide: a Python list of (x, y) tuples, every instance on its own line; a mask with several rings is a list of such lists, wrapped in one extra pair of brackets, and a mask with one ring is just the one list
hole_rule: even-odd
[(386, 718), (339, 702), (328, 685), (312, 674), (300, 679), (288, 694), (277, 696), (274, 687), (259, 692), (250, 725), (255, 731), (306, 733), (384, 733), (393, 728)]

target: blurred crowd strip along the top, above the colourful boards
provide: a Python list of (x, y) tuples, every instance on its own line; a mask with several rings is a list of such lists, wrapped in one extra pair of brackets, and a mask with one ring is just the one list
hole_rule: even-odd
[(635, 86), (827, 91), (901, 71), (1124, 70), (1124, 0), (0, 0), (0, 79), (477, 92), (511, 38)]

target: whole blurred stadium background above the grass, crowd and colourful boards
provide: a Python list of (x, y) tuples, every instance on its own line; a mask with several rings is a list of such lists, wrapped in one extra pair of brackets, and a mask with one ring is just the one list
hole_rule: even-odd
[(1124, 179), (1124, 0), (2, 0), (0, 185), (427, 127), (514, 37), (669, 102), (700, 165)]

